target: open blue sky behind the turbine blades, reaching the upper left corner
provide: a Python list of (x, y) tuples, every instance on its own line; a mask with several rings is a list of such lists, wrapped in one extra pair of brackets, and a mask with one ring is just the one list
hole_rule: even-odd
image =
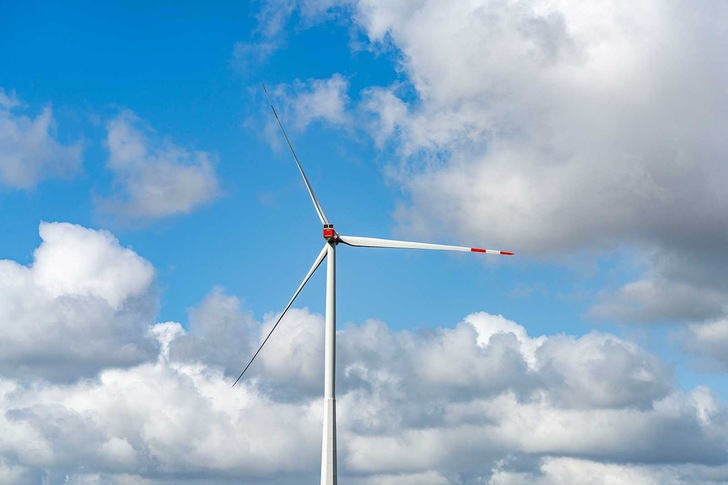
[[(53, 107), (58, 140), (80, 141), (84, 146), (84, 173), (28, 191), (4, 190), (6, 207), (13, 208), (4, 211), (8, 223), (22, 224), (11, 226), (12, 237), (19, 240), (6, 239), (7, 256), (28, 262), (29, 248), (37, 243), (38, 222), (69, 221), (110, 228), (155, 262), (164, 292), (162, 319), (184, 321), (185, 309), (199, 302), (213, 285), (244, 298), (257, 313), (285, 302), (289, 288), (297, 285), (298, 274), (305, 272), (318, 251), (319, 230), (289, 153), (279, 134), (270, 131), (272, 116), (260, 82), (276, 86), (342, 73), (355, 96), (357, 89), (366, 86), (405, 80), (393, 65), (396, 54), (351, 53), (347, 28), (332, 22), (334, 25), (293, 28), (285, 49), (262, 65), (242, 66), (230, 46), (240, 39), (256, 38), (254, 5), (204, 13), (189, 5), (81, 4), (69, 9), (29, 3), (12, 8), (17, 10), (16, 17), (7, 16), (10, 23), (3, 29), (4, 43), (13, 47), (5, 49), (5, 89), (15, 92), (24, 104), (22, 111), (30, 116), (44, 106)], [(41, 35), (29, 36), (28, 24), (11, 22), (11, 18), (32, 19), (34, 32)], [(194, 32), (204, 35), (192, 35)], [(33, 88), (25, 95), (23, 86)], [(108, 193), (111, 183), (111, 175), (104, 169), (108, 155), (103, 124), (123, 109), (144, 120), (157, 139), (168, 138), (181, 147), (214, 154), (223, 193), (189, 218), (171, 216), (139, 223), (109, 220), (99, 214), (93, 199)], [(303, 132), (291, 125), (295, 147), (339, 230), (378, 237), (398, 234), (392, 212), (403, 194), (384, 175), (393, 157), (391, 151), (373, 147), (361, 126), (337, 130), (320, 123)], [(262, 126), (269, 128), (267, 137), (262, 136)], [(300, 224), (294, 226), (294, 222)], [(438, 229), (437, 241), (489, 243), (457, 240), (445, 225)], [(357, 296), (349, 297), (353, 300), (349, 304), (342, 300), (341, 305), (343, 315), (348, 308), (358, 308), (348, 314), (351, 320), (374, 317), (392, 320), (395, 325), (434, 326), (460, 318), (463, 305), (466, 312), (487, 305), (494, 313), (510, 311), (540, 320), (541, 311), (521, 312), (525, 307), (552, 306), (557, 293), (566, 293), (560, 298), (578, 299), (568, 295), (578, 291), (571, 285), (578, 287), (594, 279), (594, 275), (580, 277), (568, 269), (564, 273), (559, 267), (527, 266), (523, 261), (494, 266), (477, 258), (383, 253), (343, 255), (353, 260), (350, 264), (361, 264), (351, 270), (342, 267), (340, 284), (357, 285), (352, 286)], [(400, 270), (396, 264), (401, 265)], [(352, 276), (347, 278), (348, 274)], [(564, 279), (557, 292), (552, 288), (557, 285), (551, 284), (554, 278)], [(413, 283), (423, 279), (431, 281), (429, 288)], [(280, 293), (272, 293), (279, 285)], [(547, 292), (547, 298), (533, 305), (523, 300), (538, 296), (510, 296), (524, 294), (528, 292), (524, 288), (530, 286), (538, 286), (538, 293)], [(343, 288), (341, 298), (346, 298), (348, 292)], [(393, 292), (401, 293), (410, 304), (395, 304), (383, 297)], [(422, 308), (417, 304), (418, 295), (442, 300), (434, 308)], [(371, 298), (377, 298), (379, 304), (365, 303)], [(311, 298), (307, 304), (322, 309), (317, 300), (321, 298)], [(551, 318), (554, 312), (564, 311), (564, 305), (553, 306), (548, 311)], [(580, 324), (578, 303), (569, 306), (576, 309), (568, 313), (569, 322), (564, 324), (576, 328)], [(372, 308), (377, 309), (375, 314)], [(399, 324), (403, 319), (407, 322)]]

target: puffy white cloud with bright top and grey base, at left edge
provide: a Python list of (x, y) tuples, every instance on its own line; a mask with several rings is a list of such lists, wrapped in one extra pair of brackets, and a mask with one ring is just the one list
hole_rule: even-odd
[(41, 223), (23, 266), (0, 260), (0, 373), (73, 380), (153, 358), (154, 269), (106, 231)]

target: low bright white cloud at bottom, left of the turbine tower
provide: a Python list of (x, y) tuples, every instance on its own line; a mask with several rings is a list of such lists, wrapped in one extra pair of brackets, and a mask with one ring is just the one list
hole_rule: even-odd
[(50, 483), (94, 473), (92, 483), (119, 474), (252, 483), (316, 461), (319, 406), (274, 402), (245, 385), (231, 391), (204, 366), (160, 359), (68, 386), (3, 387), (0, 449)]

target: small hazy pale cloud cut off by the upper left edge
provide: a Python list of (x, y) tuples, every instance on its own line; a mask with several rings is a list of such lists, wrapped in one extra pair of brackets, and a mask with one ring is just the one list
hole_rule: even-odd
[(0, 88), (0, 184), (32, 189), (50, 178), (68, 178), (81, 170), (80, 142), (60, 143), (50, 106), (35, 118), (19, 114), (15, 93)]

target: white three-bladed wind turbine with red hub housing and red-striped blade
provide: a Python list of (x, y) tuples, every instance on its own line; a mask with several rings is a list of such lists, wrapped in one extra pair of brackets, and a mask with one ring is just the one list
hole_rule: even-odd
[(283, 133), (283, 137), (288, 143), (288, 148), (293, 154), (293, 159), (296, 161), (298, 171), (303, 177), (303, 183), (306, 184), (308, 195), (311, 196), (311, 201), (316, 209), (319, 220), (323, 224), (323, 236), (326, 240), (323, 249), (316, 257), (311, 265), (311, 269), (308, 270), (306, 277), (298, 286), (298, 289), (293, 294), (293, 297), (283, 309), (283, 312), (278, 317), (275, 325), (271, 328), (270, 332), (260, 344), (258, 350), (255, 352), (253, 357), (245, 366), (243, 372), (240, 373), (238, 378), (233, 383), (235, 384), (240, 381), (243, 374), (248, 370), (250, 364), (258, 356), (261, 349), (268, 341), (273, 331), (276, 329), (278, 324), (283, 319), (291, 305), (295, 301), (298, 294), (301, 292), (303, 287), (306, 285), (308, 280), (314, 274), (316, 269), (321, 265), (324, 259), (328, 258), (326, 262), (326, 326), (325, 326), (325, 343), (324, 343), (324, 428), (323, 428), (323, 439), (321, 443), (321, 485), (335, 485), (336, 484), (336, 246), (340, 243), (346, 244), (347, 246), (354, 247), (367, 247), (367, 248), (398, 248), (398, 249), (434, 249), (439, 251), (461, 251), (468, 253), (486, 253), (486, 254), (500, 254), (505, 256), (512, 256), (513, 253), (509, 251), (498, 251), (494, 249), (482, 249), (482, 248), (471, 248), (466, 246), (450, 246), (445, 244), (432, 244), (412, 241), (397, 241), (394, 239), (379, 239), (373, 237), (360, 237), (360, 236), (344, 236), (334, 230), (334, 225), (329, 221), (324, 213), (321, 204), (319, 203), (316, 195), (314, 194), (313, 187), (306, 177), (306, 173), (303, 171), (303, 166), (296, 156), (296, 152), (293, 149), (293, 145), (286, 134), (286, 130), (283, 128), (280, 118), (276, 109), (273, 107), (273, 103), (268, 96), (268, 90), (263, 84), (263, 91), (265, 97), (268, 100), (273, 114), (276, 117), (278, 126)]

